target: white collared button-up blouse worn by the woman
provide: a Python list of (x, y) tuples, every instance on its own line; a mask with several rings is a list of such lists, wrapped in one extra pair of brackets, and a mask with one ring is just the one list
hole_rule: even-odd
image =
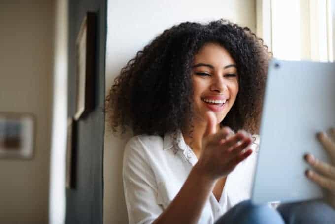
[[(173, 135), (138, 135), (126, 145), (123, 185), (130, 224), (150, 224), (167, 208), (186, 181), (198, 159), (178, 132)], [(253, 153), (227, 176), (219, 202), (213, 193), (199, 224), (212, 224), (235, 204), (249, 199), (257, 160), (258, 136)]]

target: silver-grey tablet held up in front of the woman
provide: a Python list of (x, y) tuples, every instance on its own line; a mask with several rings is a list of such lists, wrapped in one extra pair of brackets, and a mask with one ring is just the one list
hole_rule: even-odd
[(330, 161), (316, 133), (335, 127), (335, 63), (272, 60), (268, 69), (260, 148), (251, 200), (321, 198), (305, 177), (304, 154)]

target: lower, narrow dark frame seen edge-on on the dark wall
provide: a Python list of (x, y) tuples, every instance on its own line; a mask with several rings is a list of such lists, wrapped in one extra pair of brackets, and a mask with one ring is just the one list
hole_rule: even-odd
[(75, 187), (75, 147), (76, 147), (76, 121), (67, 119), (67, 149), (66, 149), (66, 187)]

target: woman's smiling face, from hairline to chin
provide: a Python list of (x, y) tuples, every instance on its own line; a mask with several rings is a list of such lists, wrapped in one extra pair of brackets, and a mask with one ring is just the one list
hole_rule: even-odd
[(234, 59), (219, 44), (207, 43), (194, 57), (192, 80), (195, 121), (206, 122), (205, 113), (210, 110), (219, 124), (232, 108), (238, 92)]

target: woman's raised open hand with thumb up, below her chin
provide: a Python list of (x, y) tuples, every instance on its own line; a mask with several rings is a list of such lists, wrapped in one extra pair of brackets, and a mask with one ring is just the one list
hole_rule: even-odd
[(252, 149), (252, 137), (245, 131), (236, 134), (224, 127), (217, 131), (216, 116), (207, 112), (207, 128), (202, 139), (202, 152), (197, 169), (211, 180), (227, 176), (235, 166), (247, 158)]

